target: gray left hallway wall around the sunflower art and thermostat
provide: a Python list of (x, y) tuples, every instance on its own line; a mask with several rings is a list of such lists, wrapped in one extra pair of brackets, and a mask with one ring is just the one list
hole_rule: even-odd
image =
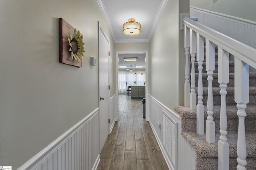
[[(98, 107), (98, 23), (114, 41), (96, 0), (0, 1), (0, 165), (17, 169)], [(82, 68), (58, 61), (58, 18), (84, 35)]]

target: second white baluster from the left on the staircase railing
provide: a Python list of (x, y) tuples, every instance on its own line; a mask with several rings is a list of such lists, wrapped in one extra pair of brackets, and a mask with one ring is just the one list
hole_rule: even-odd
[(196, 57), (196, 32), (190, 29), (190, 54), (191, 54), (191, 90), (190, 90), (190, 109), (196, 109), (196, 76), (195, 76), (195, 57)]

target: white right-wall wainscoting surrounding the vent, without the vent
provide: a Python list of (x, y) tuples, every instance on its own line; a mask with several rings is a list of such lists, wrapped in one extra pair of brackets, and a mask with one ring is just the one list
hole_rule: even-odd
[[(160, 101), (149, 95), (149, 123), (152, 127), (153, 133), (156, 136), (156, 141), (164, 155), (164, 159), (170, 170), (193, 170), (195, 169), (195, 150), (181, 135), (181, 117), (175, 111), (164, 106)], [(165, 113), (172, 120), (177, 123), (177, 152), (175, 160), (170, 160), (172, 157), (164, 147), (163, 134), (163, 113)], [(160, 128), (158, 127), (160, 123)], [(173, 155), (172, 155), (173, 156)], [(172, 164), (175, 162), (174, 164)]]

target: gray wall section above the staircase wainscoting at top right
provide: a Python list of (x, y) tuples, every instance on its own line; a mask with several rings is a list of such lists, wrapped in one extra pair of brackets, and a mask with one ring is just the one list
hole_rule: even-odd
[(255, 0), (190, 0), (190, 6), (256, 21)]

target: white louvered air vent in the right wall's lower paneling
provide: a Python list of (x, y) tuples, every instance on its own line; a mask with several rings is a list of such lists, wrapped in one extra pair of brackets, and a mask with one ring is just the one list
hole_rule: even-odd
[(177, 123), (172, 119), (167, 111), (163, 110), (163, 145), (168, 154), (172, 166), (177, 165)]

